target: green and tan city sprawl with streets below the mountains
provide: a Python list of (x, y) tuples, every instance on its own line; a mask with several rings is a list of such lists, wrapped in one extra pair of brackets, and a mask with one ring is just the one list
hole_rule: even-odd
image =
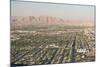
[(38, 65), (94, 60), (94, 28), (11, 30), (11, 64)]

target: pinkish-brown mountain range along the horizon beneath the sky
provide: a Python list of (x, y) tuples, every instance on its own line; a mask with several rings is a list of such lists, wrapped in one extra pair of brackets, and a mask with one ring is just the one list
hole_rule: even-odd
[(52, 16), (11, 16), (11, 28), (45, 26), (94, 26), (93, 21), (66, 20)]

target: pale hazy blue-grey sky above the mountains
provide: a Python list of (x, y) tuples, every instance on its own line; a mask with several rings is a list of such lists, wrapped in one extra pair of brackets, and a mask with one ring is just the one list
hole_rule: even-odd
[(94, 20), (94, 6), (11, 1), (11, 16), (53, 16)]

